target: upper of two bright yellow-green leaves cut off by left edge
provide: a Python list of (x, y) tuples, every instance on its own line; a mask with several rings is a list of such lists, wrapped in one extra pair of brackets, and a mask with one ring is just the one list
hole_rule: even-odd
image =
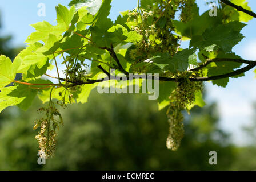
[(12, 63), (8, 57), (0, 55), (0, 89), (14, 81), (20, 65), (20, 59), (15, 59)]

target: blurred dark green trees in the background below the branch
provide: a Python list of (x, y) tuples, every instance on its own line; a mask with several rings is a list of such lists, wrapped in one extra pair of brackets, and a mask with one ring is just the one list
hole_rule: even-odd
[[(26, 112), (17, 107), (4, 110), (0, 115), (0, 169), (225, 170), (253, 169), (256, 164), (247, 158), (248, 152), (253, 156), (250, 151), (229, 144), (229, 135), (218, 129), (215, 104), (196, 107), (186, 115), (185, 138), (173, 152), (166, 148), (169, 124), (157, 102), (141, 94), (96, 91), (87, 104), (62, 110), (65, 126), (59, 131), (55, 157), (47, 159), (45, 166), (37, 164), (37, 131), (33, 130), (41, 102), (35, 100)], [(218, 153), (218, 165), (209, 164), (212, 150)]]

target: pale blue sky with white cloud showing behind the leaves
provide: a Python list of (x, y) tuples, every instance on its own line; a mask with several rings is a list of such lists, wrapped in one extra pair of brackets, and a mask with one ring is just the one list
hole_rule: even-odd
[[(200, 12), (209, 9), (205, 5), (204, 0), (197, 0)], [(256, 11), (256, 1), (247, 0), (249, 6), (253, 11)], [(38, 4), (45, 3), (46, 16), (39, 17)], [(13, 35), (11, 42), (12, 46), (21, 46), (26, 40), (27, 36), (34, 31), (30, 24), (46, 20), (51, 24), (55, 24), (55, 8), (58, 3), (67, 5), (69, 0), (52, 1), (52, 0), (14, 0), (14, 1), (0, 1), (2, 30), (3, 35)], [(119, 15), (119, 11), (133, 9), (137, 6), (137, 0), (113, 0), (110, 18), (115, 19)], [(233, 52), (241, 56), (243, 59), (256, 60), (256, 19), (247, 23), (243, 28), (242, 33), (246, 38), (242, 40), (239, 45), (235, 46)], [(187, 43), (183, 43), (186, 46)], [(217, 101), (218, 110), (221, 114), (220, 125), (226, 131), (229, 131), (237, 144), (245, 144), (246, 136), (242, 133), (241, 126), (250, 125), (256, 122), (253, 117), (255, 110), (253, 110), (253, 102), (256, 102), (256, 79), (253, 71), (246, 72), (246, 76), (242, 78), (230, 78), (227, 88), (219, 88), (213, 86), (209, 82), (206, 83), (207, 101)]]

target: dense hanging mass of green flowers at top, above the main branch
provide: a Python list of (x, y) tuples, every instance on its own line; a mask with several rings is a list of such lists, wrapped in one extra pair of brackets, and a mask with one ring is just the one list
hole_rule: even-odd
[[(137, 7), (129, 11), (128, 22), (136, 22), (131, 30), (143, 36), (141, 42), (134, 45), (130, 51), (130, 57), (134, 61), (131, 68), (143, 60), (154, 56), (154, 53), (169, 53), (175, 55), (179, 47), (180, 36), (175, 34), (173, 19), (181, 10), (180, 19), (183, 22), (193, 17), (195, 0), (157, 1), (150, 7), (150, 11)], [(146, 68), (132, 69), (134, 72), (146, 72)]]

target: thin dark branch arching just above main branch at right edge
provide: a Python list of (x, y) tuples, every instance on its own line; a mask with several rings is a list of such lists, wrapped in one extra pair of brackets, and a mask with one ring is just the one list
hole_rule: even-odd
[(235, 63), (245, 63), (245, 64), (255, 64), (255, 61), (247, 61), (243, 59), (222, 59), (222, 58), (214, 58), (214, 59), (206, 59), (205, 63), (201, 64), (199, 67), (190, 69), (189, 71), (199, 71), (202, 68), (205, 68), (210, 63), (218, 63), (218, 62), (235, 62)]

